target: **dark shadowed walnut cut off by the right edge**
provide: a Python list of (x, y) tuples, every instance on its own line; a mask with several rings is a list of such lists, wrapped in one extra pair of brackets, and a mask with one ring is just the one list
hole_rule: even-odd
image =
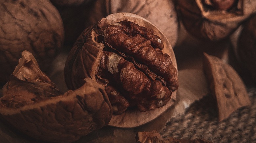
[(237, 58), (236, 70), (245, 82), (256, 82), (256, 15), (251, 16), (231, 35)]

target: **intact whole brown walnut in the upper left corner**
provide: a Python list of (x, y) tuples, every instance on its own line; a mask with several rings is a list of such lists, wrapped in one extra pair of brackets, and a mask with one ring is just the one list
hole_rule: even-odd
[[(45, 70), (64, 42), (57, 9), (48, 0), (0, 0), (0, 84), (8, 81), (24, 50)], [(4, 69), (4, 70), (3, 70)]]

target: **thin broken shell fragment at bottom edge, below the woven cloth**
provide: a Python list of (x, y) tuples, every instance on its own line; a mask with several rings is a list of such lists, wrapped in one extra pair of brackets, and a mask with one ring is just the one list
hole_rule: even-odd
[(204, 139), (188, 139), (188, 138), (173, 138), (171, 136), (162, 137), (157, 131), (137, 132), (136, 143), (212, 143)]

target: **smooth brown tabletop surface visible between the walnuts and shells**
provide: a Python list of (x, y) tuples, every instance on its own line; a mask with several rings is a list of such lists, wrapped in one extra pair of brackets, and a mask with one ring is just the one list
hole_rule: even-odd
[[(230, 49), (231, 43), (229, 39), (219, 42), (201, 41), (187, 34), (184, 28), (181, 27), (177, 45), (174, 46), (180, 80), (180, 87), (177, 90), (177, 101), (174, 106), (167, 109), (158, 118), (139, 127), (118, 128), (105, 126), (98, 131), (82, 137), (76, 143), (134, 143), (136, 141), (135, 135), (137, 131), (160, 131), (168, 119), (182, 114), (186, 107), (209, 92), (202, 69), (203, 52), (220, 57), (225, 62), (233, 62), (232, 50)], [(49, 71), (48, 73), (52, 81), (55, 82), (62, 91), (67, 89), (62, 70), (64, 68), (63, 64), (65, 64), (66, 57), (67, 55), (65, 52), (60, 54), (54, 61), (54, 66), (52, 67), (54, 70)], [(32, 143), (34, 140), (17, 132), (5, 121), (1, 121), (0, 142)]]

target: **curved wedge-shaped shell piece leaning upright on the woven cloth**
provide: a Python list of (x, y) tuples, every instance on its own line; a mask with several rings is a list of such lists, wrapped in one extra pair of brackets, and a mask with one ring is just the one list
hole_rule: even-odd
[(204, 53), (203, 69), (217, 101), (219, 121), (229, 117), (236, 109), (250, 105), (245, 84), (230, 65)]

